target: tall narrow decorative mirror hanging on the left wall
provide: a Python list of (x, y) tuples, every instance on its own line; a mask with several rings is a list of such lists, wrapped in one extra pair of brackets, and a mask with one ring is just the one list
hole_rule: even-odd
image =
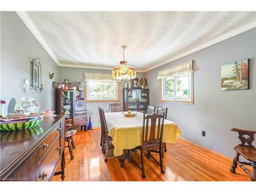
[(31, 61), (31, 88), (40, 93), (44, 89), (39, 57)]

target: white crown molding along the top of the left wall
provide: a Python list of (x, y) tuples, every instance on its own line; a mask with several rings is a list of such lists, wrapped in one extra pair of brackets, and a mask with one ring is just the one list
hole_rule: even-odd
[(47, 53), (52, 57), (52, 59), (56, 62), (56, 64), (59, 66), (59, 60), (56, 57), (56, 55), (53, 53), (52, 49), (47, 44), (44, 37), (42, 37), (41, 33), (36, 28), (35, 24), (32, 22), (31, 18), (25, 11), (16, 11), (17, 15), (22, 19), (22, 21), (25, 23), (25, 25), (29, 28), (31, 33), (35, 36), (35, 38), (40, 42), (41, 46), (45, 48)]

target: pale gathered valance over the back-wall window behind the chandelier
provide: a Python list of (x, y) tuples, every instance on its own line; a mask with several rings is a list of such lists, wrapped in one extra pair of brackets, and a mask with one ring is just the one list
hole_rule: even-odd
[(121, 80), (112, 79), (111, 74), (101, 73), (84, 73), (84, 81), (121, 82)]

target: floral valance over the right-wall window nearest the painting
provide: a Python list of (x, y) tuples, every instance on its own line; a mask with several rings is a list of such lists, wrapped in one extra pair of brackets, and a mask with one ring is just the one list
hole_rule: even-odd
[(193, 59), (179, 63), (176, 66), (163, 69), (158, 72), (157, 79), (163, 79), (166, 77), (174, 76), (174, 75), (181, 75), (188, 72), (193, 72)]

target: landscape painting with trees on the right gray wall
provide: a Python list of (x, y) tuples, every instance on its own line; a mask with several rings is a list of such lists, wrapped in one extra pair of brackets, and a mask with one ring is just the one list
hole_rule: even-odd
[(221, 66), (221, 91), (249, 89), (248, 61), (244, 59)]

